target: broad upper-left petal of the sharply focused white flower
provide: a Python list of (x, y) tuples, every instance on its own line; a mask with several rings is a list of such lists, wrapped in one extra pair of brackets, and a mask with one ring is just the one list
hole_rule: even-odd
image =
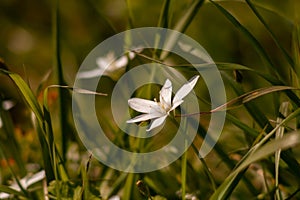
[(141, 113), (153, 113), (161, 110), (160, 106), (155, 101), (150, 101), (140, 98), (132, 98), (128, 100), (128, 105), (133, 109)]

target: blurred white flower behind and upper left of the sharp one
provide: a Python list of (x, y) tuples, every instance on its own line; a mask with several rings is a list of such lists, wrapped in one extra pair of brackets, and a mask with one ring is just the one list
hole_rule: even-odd
[[(134, 51), (141, 52), (143, 49), (135, 48)], [(128, 55), (127, 55), (128, 54)], [(78, 73), (77, 77), (80, 79), (89, 79), (100, 76), (109, 76), (112, 80), (118, 80), (125, 72), (125, 67), (128, 65), (129, 60), (135, 57), (135, 53), (129, 51), (127, 54), (116, 59), (115, 53), (110, 51), (106, 56), (98, 57), (96, 59), (97, 68)]]

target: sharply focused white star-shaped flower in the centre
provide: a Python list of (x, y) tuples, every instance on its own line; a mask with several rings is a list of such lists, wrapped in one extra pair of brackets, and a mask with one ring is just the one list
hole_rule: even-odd
[(183, 103), (183, 98), (186, 97), (195, 87), (199, 76), (194, 76), (189, 80), (188, 83), (184, 84), (172, 98), (172, 83), (169, 79), (166, 80), (165, 84), (159, 92), (159, 101), (150, 101), (141, 98), (132, 98), (128, 100), (128, 105), (141, 113), (133, 119), (127, 120), (127, 123), (142, 122), (149, 119), (153, 119), (150, 127), (147, 131), (150, 131), (160, 125), (162, 125), (169, 113)]

